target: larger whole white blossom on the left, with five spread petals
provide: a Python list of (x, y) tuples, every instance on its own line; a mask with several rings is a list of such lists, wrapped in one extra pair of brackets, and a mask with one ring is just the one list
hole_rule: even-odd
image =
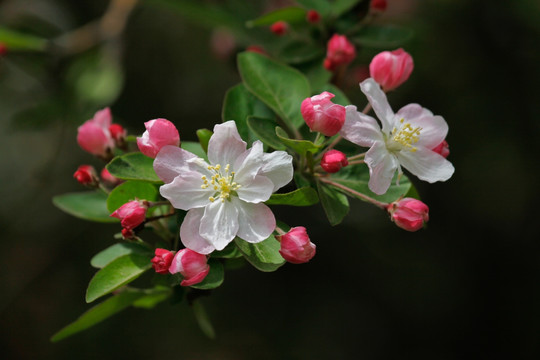
[(262, 202), (293, 176), (292, 156), (264, 153), (255, 141), (246, 150), (234, 121), (218, 124), (208, 143), (208, 164), (175, 146), (165, 146), (154, 170), (165, 182), (160, 193), (171, 204), (189, 210), (180, 238), (201, 254), (222, 250), (236, 236), (258, 243), (276, 227), (274, 214)]

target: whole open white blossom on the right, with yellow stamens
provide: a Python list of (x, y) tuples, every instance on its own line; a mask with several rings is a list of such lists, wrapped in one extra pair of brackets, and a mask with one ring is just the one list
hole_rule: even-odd
[(370, 147), (365, 161), (371, 191), (384, 194), (396, 170), (402, 174), (401, 166), (430, 183), (448, 180), (454, 167), (431, 150), (445, 139), (446, 121), (418, 104), (406, 105), (394, 114), (386, 95), (372, 78), (363, 81), (360, 88), (381, 121), (382, 130), (374, 118), (349, 105), (340, 135), (352, 143)]

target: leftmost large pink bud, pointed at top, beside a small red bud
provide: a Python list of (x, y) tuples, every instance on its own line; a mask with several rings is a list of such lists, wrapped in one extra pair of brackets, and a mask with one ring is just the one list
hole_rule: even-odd
[(79, 126), (77, 133), (79, 146), (92, 155), (109, 158), (114, 149), (114, 139), (109, 131), (111, 121), (109, 108), (96, 112), (92, 119)]

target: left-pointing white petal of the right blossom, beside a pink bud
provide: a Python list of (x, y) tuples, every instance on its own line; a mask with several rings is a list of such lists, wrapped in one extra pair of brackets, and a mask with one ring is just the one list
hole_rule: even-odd
[(383, 134), (377, 120), (358, 112), (354, 105), (348, 105), (345, 109), (347, 116), (339, 132), (341, 136), (354, 144), (365, 147), (371, 147), (375, 141), (383, 141)]

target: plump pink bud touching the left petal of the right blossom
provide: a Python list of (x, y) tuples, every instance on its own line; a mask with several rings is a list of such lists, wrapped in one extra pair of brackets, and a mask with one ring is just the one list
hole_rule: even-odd
[(325, 91), (302, 101), (300, 112), (311, 131), (334, 136), (343, 127), (346, 110), (344, 106), (334, 104), (330, 100), (334, 96), (334, 94)]

